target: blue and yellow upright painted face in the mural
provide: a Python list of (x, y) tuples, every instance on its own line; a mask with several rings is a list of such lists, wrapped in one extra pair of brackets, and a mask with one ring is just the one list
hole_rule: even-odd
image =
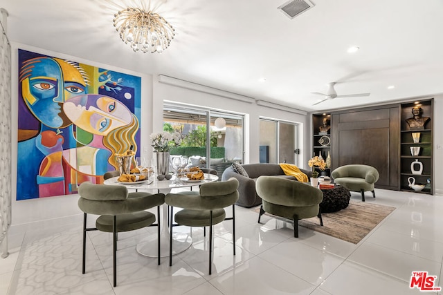
[(21, 68), (20, 81), (26, 106), (37, 120), (53, 129), (71, 124), (62, 104), (85, 92), (86, 83), (77, 68), (62, 59), (30, 59)]

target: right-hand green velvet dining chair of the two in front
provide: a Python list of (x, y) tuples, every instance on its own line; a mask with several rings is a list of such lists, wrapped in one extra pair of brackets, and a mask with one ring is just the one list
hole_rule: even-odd
[[(209, 274), (213, 265), (213, 225), (223, 220), (233, 220), (233, 248), (235, 255), (235, 202), (238, 200), (238, 180), (230, 178), (224, 182), (201, 184), (200, 190), (168, 193), (165, 203), (170, 206), (170, 250), (169, 265), (172, 266), (172, 229), (177, 225), (209, 227)], [(224, 208), (233, 207), (233, 217), (226, 218)], [(174, 207), (183, 208), (175, 213)], [(172, 220), (175, 220), (174, 225)]]

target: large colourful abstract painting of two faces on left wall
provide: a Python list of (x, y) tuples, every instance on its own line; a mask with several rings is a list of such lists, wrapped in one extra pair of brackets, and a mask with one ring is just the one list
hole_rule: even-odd
[(77, 193), (140, 146), (141, 77), (19, 49), (17, 200)]

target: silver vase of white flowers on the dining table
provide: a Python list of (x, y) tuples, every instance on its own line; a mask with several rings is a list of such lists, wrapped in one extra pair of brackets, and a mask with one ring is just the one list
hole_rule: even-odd
[(174, 146), (181, 144), (181, 134), (179, 132), (169, 133), (166, 131), (152, 133), (150, 135), (152, 147), (156, 153), (157, 160), (157, 178), (163, 180), (170, 179), (169, 174), (169, 158), (170, 150)]

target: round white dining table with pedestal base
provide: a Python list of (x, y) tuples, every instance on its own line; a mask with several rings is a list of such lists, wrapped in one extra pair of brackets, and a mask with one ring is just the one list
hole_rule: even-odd
[[(174, 178), (171, 180), (150, 180), (143, 183), (134, 182), (134, 184), (123, 184), (122, 182), (118, 182), (118, 177), (109, 178), (105, 180), (104, 184), (107, 185), (123, 185), (127, 187), (127, 189), (135, 189), (135, 190), (150, 190), (152, 193), (170, 193), (172, 189), (180, 189), (183, 187), (194, 187), (200, 184), (215, 182), (219, 179), (217, 175), (204, 173), (204, 180), (199, 181), (182, 181), (178, 183), (174, 183)], [(168, 204), (163, 204), (161, 206), (161, 217), (157, 217), (161, 219), (160, 222), (160, 256), (166, 257), (169, 255), (169, 240), (170, 240), (170, 231), (168, 229)], [(174, 231), (172, 236), (172, 255), (179, 254), (186, 249), (188, 249), (192, 245), (192, 237), (188, 233), (183, 233), (180, 231)], [(151, 234), (147, 236), (147, 238), (143, 238), (136, 245), (136, 250), (139, 254), (147, 257), (157, 257), (157, 235)]]

